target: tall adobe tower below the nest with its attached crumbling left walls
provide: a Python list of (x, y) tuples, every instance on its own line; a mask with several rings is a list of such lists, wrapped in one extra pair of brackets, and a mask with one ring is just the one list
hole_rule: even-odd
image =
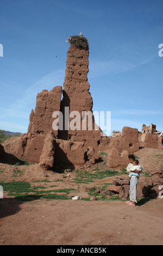
[[(92, 163), (97, 156), (88, 159), (85, 154), (97, 150), (102, 140), (101, 129), (96, 126), (92, 114), (92, 130), (86, 126), (82, 130), (83, 112), (91, 112), (93, 101), (89, 92), (90, 84), (87, 81), (89, 72), (89, 50), (71, 44), (67, 51), (64, 90), (54, 87), (50, 92), (43, 90), (37, 94), (35, 111), (32, 109), (29, 117), (28, 132), (20, 137), (15, 154), (29, 162), (39, 163), (43, 168), (51, 168), (54, 163), (68, 166), (83, 165), (86, 160)], [(61, 95), (63, 93), (63, 99)], [(65, 129), (65, 107), (69, 112), (78, 111), (80, 115), (80, 130)], [(63, 114), (64, 130), (53, 130), (53, 113), (60, 111)], [(69, 118), (69, 124), (75, 116)], [(98, 128), (98, 129), (97, 129)], [(49, 145), (49, 147), (48, 147)], [(102, 145), (102, 144), (101, 144)], [(92, 147), (92, 148), (91, 148)]]

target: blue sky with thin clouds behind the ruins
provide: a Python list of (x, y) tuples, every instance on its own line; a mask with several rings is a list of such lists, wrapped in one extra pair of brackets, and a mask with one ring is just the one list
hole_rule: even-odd
[(111, 111), (111, 131), (163, 130), (162, 0), (1, 0), (0, 129), (27, 132), (36, 95), (63, 86), (66, 39), (89, 41), (93, 111)]

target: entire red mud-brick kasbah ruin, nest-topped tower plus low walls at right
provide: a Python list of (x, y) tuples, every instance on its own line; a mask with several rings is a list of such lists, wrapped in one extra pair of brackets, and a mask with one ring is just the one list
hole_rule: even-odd
[[(71, 36), (68, 38), (68, 42), (70, 47), (67, 51), (63, 88), (56, 86), (50, 92), (48, 90), (39, 92), (36, 97), (35, 110), (32, 109), (30, 113), (28, 132), (23, 133), (20, 137), (8, 138), (0, 144), (1, 170), (3, 168), (6, 170), (6, 173), (5, 171), (1, 173), (1, 180), (14, 180), (9, 176), (9, 172), (13, 172), (14, 168), (26, 170), (24, 176), (17, 179), (18, 181), (39, 180), (40, 178), (60, 180), (62, 178), (65, 182), (71, 182), (70, 177), (73, 177), (73, 170), (96, 173), (95, 168), (99, 172), (101, 170), (116, 170), (121, 173), (121, 170), (126, 169), (129, 163), (128, 156), (134, 154), (140, 160), (143, 172), (147, 174), (142, 174), (140, 177), (137, 185), (137, 198), (159, 199), (160, 203), (163, 200), (161, 199), (162, 194), (159, 197), (160, 186), (163, 185), (162, 158), (158, 164), (155, 160), (153, 165), (149, 166), (148, 164), (153, 154), (162, 157), (163, 135), (162, 131), (156, 130), (156, 124), (146, 124), (149, 126), (142, 124), (141, 131), (124, 126), (122, 132), (113, 131), (112, 136), (102, 136), (100, 127), (94, 129), (96, 124), (92, 115), (92, 130), (53, 129), (55, 120), (53, 113), (61, 112), (65, 120), (65, 107), (68, 107), (70, 113), (78, 111), (81, 116), (84, 111), (92, 112), (93, 100), (87, 80), (89, 72), (87, 40), (83, 35), (79, 35)], [(82, 120), (80, 121), (82, 122)], [(65, 123), (64, 126), (66, 126)], [(103, 152), (105, 155), (101, 154)], [(17, 166), (13, 162), (10, 164), (13, 157), (15, 162), (18, 159), (23, 159), (32, 164), (30, 166)], [(6, 179), (3, 179), (4, 176)], [(107, 198), (114, 195), (121, 200), (126, 200), (129, 197), (130, 185), (127, 173), (110, 178), (104, 176), (103, 182), (108, 182), (109, 185), (103, 188), (102, 181), (97, 182), (96, 193), (98, 196), (89, 196), (88, 192), (94, 186), (90, 184), (84, 185), (83, 194), (81, 191), (77, 195), (85, 197), (87, 193), (87, 197), (91, 201), (95, 200), (92, 203), (96, 203), (104, 194)], [(76, 196), (75, 192), (73, 192), (73, 196)], [(82, 200), (80, 202), (82, 203)]]

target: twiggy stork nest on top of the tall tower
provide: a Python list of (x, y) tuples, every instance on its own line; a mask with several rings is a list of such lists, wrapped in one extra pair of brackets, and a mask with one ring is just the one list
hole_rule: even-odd
[(87, 42), (87, 39), (83, 35), (69, 36), (66, 42), (70, 42), (70, 44), (74, 44), (76, 47), (80, 49), (89, 50), (89, 44)]

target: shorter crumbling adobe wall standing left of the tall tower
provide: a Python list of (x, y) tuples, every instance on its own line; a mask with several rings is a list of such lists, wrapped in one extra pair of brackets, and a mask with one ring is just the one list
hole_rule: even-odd
[[(52, 114), (60, 111), (62, 87), (54, 87), (50, 92), (42, 90), (37, 94), (35, 112), (32, 109), (29, 117), (28, 132), (20, 137), (15, 154), (29, 162), (39, 163), (43, 149), (43, 142), (49, 132), (53, 131)], [(53, 131), (58, 136), (58, 131)]]

